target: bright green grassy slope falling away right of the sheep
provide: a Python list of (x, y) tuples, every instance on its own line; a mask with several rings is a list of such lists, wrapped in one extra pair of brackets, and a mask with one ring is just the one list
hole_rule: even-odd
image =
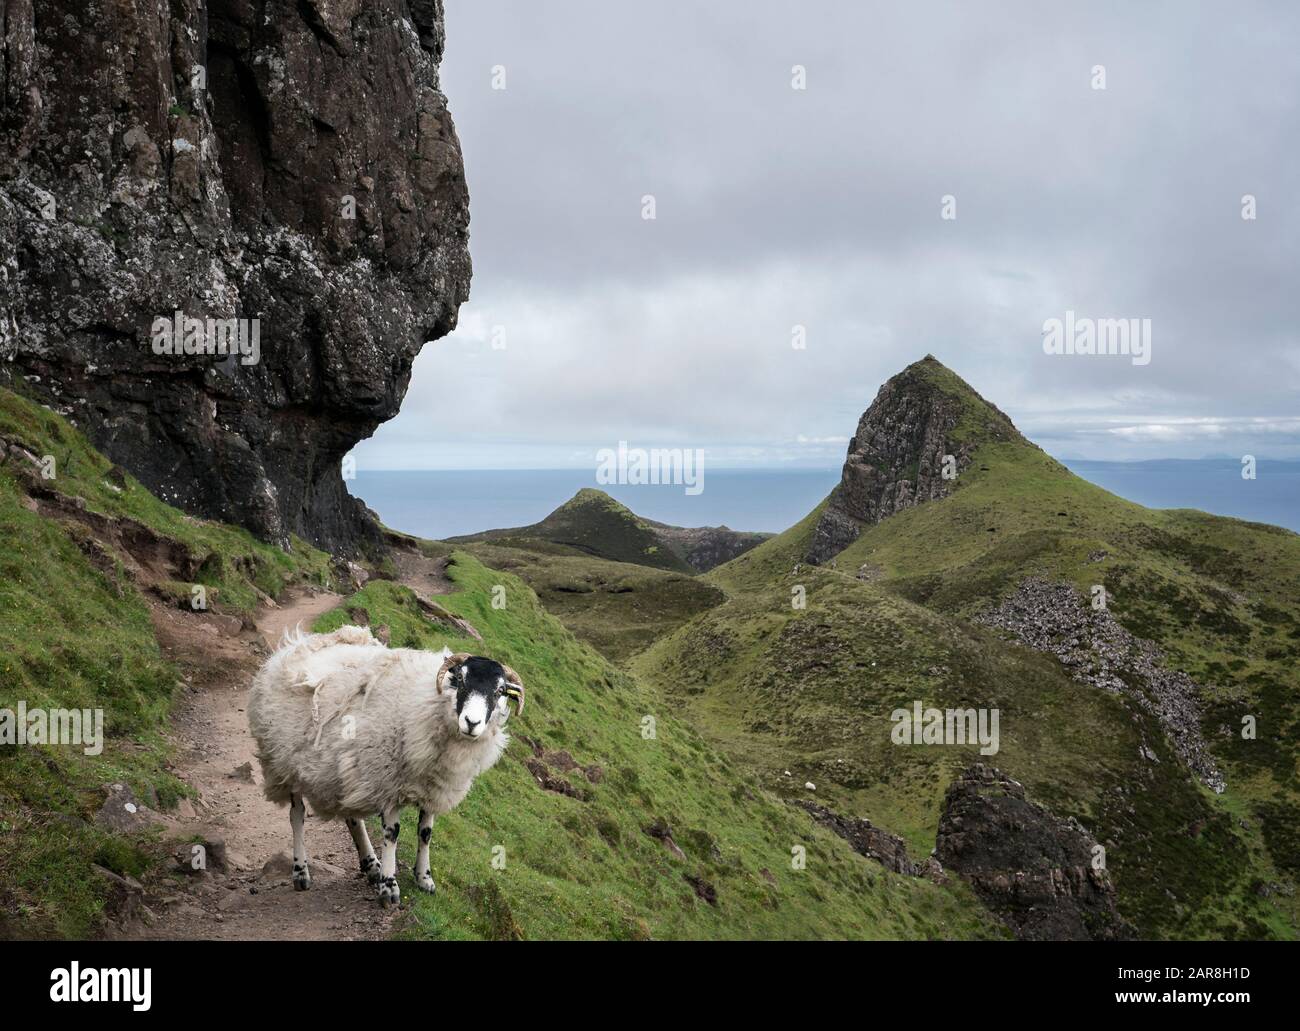
[[(484, 634), (473, 650), (514, 666), (528, 709), (516, 740), (465, 802), (434, 827), (438, 894), (408, 892), (411, 937), (963, 937), (998, 935), (962, 885), (940, 888), (885, 872), (802, 813), (750, 783), (675, 706), (645, 692), (577, 641), (516, 577), (455, 553), (459, 590), (439, 598)], [(491, 589), (507, 590), (506, 608)], [(387, 623), (393, 644), (468, 647), (424, 620), (404, 588), (370, 584), (316, 629), (332, 629), (363, 605)], [(655, 737), (642, 720), (655, 719)], [(543, 792), (524, 767), (521, 737), (567, 749), (604, 772), (577, 801)], [(407, 814), (406, 820), (413, 819)], [(664, 819), (686, 858), (644, 827)], [(807, 849), (793, 870), (790, 849)], [(497, 870), (495, 848), (506, 867)], [(403, 842), (408, 866), (413, 845)], [(767, 871), (764, 874), (763, 871)], [(696, 897), (685, 875), (718, 889), (718, 906)], [(415, 896), (412, 898), (412, 896)]]

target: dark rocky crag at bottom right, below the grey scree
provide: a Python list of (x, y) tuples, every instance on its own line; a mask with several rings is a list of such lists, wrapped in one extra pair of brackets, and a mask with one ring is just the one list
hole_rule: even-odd
[(1024, 797), (1024, 788), (975, 763), (944, 794), (935, 855), (1026, 941), (1118, 940), (1131, 930), (1096, 840)]

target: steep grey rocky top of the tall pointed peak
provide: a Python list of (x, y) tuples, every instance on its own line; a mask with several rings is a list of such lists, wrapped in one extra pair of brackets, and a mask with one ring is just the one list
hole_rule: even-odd
[[(840, 484), (818, 520), (807, 560), (823, 563), (864, 527), (952, 493), (975, 449), (991, 439), (1023, 439), (1001, 411), (932, 355), (885, 382), (849, 441)], [(945, 478), (952, 455), (954, 478)]]

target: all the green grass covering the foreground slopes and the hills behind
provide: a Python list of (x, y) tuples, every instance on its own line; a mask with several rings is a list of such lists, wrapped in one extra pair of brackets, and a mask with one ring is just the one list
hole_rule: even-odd
[[(529, 688), (506, 758), (436, 826), (439, 893), (403, 879), (403, 936), (1001, 936), (959, 881), (888, 874), (784, 801), (807, 796), (811, 780), (819, 801), (926, 855), (946, 784), (979, 757), (892, 745), (889, 712), (913, 699), (1001, 710), (1002, 749), (987, 761), (1106, 846), (1121, 910), (1141, 935), (1296, 936), (1300, 538), (1124, 502), (1008, 432), (941, 365), (918, 364), (956, 391), (957, 436), (979, 450), (949, 498), (868, 528), (835, 571), (801, 564), (820, 508), (696, 577), (647, 568), (667, 559), (630, 514), (586, 498), (581, 540), (421, 543), (451, 555), (456, 590), (439, 601), (482, 644), (429, 621), (387, 580), (321, 618), (317, 629), (330, 629), (364, 606), (394, 646), (493, 655)], [(148, 528), (183, 558), (192, 577), (155, 586), (177, 605), (204, 582), (218, 611), (244, 612), (260, 592), (329, 577), (329, 556), (300, 542), (281, 551), (161, 503), (65, 420), (9, 391), (0, 437), (55, 456), (48, 489), (81, 498), (109, 529)], [(101, 785), (129, 783), (161, 807), (185, 790), (166, 772), (177, 671), (122, 556), (82, 523), (30, 511), (21, 462), (0, 463), (0, 707), (101, 707), (108, 740), (99, 757), (0, 750), (0, 936), (75, 937), (94, 931), (105, 900), (90, 863), (138, 875), (159, 849), (148, 835), (94, 826)], [(594, 556), (607, 549), (602, 519), (621, 562)], [(854, 579), (859, 568), (867, 580)], [(1206, 686), (1222, 796), (1187, 776), (1149, 716), (971, 621), (1028, 575), (1082, 592), (1104, 584), (1115, 616)], [(495, 586), (504, 608), (493, 607)], [(792, 606), (796, 586), (805, 608)], [(1254, 740), (1238, 732), (1243, 714), (1257, 720)], [(524, 738), (603, 776), (564, 774), (585, 801), (543, 792), (523, 763)], [(1143, 741), (1157, 764), (1139, 758)], [(685, 858), (645, 833), (655, 820)], [(805, 870), (792, 868), (796, 845)], [(404, 842), (407, 868), (412, 854)], [(716, 907), (688, 876), (715, 885)]]

